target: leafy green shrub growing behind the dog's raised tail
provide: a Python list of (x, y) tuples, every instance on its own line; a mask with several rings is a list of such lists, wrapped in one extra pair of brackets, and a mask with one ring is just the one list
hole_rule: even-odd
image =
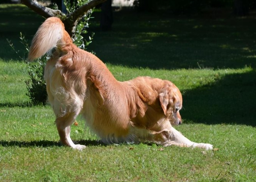
[[(75, 3), (70, 3), (70, 1), (65, 0), (64, 5), (66, 6), (68, 14), (72, 14), (72, 12), (76, 10), (76, 8), (82, 6), (86, 2), (88, 2), (88, 0), (77, 0), (77, 3), (75, 5)], [(86, 49), (86, 46), (88, 46), (92, 42), (92, 37), (94, 36), (94, 33), (92, 33), (92, 36), (89, 36), (89, 41), (86, 41), (83, 37), (84, 34), (88, 33), (86, 28), (88, 28), (89, 26), (88, 21), (91, 18), (92, 12), (93, 10), (90, 10), (87, 12), (87, 14), (82, 16), (77, 26), (75, 27), (75, 34), (72, 37), (74, 44), (84, 50)], [(29, 51), (28, 41), (25, 39), (25, 36), (22, 35), (22, 33), (20, 33), (20, 40), (20, 42), (25, 47), (24, 56), (20, 56), (19, 51), (15, 50), (14, 45), (10, 42), (10, 40), (7, 41), (9, 42), (12, 49), (19, 56), (20, 60), (26, 61), (25, 55)], [(29, 96), (33, 105), (45, 105), (47, 103), (46, 83), (44, 80), (44, 67), (49, 58), (50, 56), (44, 55), (41, 58), (38, 58), (35, 62), (28, 63), (29, 79), (25, 81), (28, 90), (26, 95)]]

